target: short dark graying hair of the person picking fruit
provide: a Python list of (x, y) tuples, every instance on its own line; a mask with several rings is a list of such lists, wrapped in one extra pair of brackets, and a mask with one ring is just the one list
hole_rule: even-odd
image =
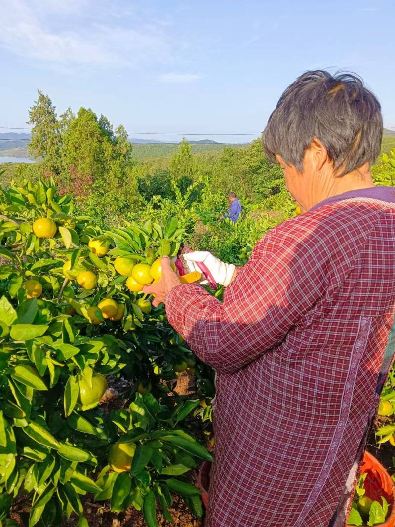
[(374, 163), (380, 153), (383, 123), (376, 96), (353, 73), (333, 76), (307, 71), (288, 86), (262, 134), (263, 150), (276, 162), (303, 170), (303, 158), (313, 138), (328, 151), (338, 175)]

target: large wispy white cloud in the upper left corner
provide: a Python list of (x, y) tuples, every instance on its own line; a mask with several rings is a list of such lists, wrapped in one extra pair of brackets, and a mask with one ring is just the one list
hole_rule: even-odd
[(164, 24), (133, 18), (133, 9), (119, 18), (105, 0), (0, 0), (0, 12), (0, 47), (28, 60), (55, 67), (171, 62)]

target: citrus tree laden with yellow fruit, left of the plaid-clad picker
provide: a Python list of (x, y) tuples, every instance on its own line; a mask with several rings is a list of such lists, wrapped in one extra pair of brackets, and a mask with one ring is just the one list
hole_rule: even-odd
[(4, 524), (16, 497), (29, 527), (72, 513), (87, 525), (86, 494), (142, 510), (150, 527), (156, 503), (171, 520), (173, 492), (202, 514), (185, 474), (211, 456), (181, 428), (200, 401), (173, 392), (194, 357), (141, 292), (182, 235), (173, 218), (102, 230), (53, 181), (0, 189)]

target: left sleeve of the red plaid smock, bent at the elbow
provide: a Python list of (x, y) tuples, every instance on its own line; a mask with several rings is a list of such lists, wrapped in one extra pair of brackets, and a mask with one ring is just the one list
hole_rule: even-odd
[(274, 229), (238, 270), (223, 302), (185, 284), (167, 295), (167, 318), (203, 362), (236, 372), (280, 344), (323, 297), (328, 257), (323, 238), (317, 244)]

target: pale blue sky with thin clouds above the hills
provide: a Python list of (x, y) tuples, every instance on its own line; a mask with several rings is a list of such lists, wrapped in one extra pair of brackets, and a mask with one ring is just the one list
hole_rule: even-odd
[(0, 126), (26, 126), (40, 89), (134, 136), (259, 133), (297, 75), (331, 68), (361, 74), (395, 128), (389, 0), (0, 0), (0, 13)]

